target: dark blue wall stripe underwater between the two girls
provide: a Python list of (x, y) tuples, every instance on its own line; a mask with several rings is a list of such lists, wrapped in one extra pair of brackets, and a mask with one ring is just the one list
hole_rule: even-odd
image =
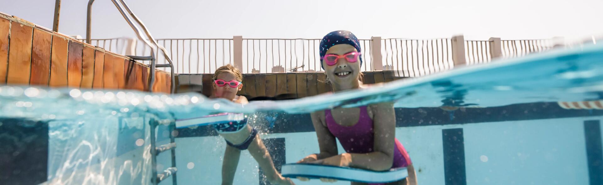
[[(276, 167), (276, 170), (280, 172), (280, 168), (285, 165), (286, 162), (285, 138), (262, 139), (262, 142), (264, 142), (264, 145), (268, 149), (268, 152), (270, 152), (270, 156), (272, 157), (272, 161), (274, 162), (274, 167)], [(268, 180), (264, 176), (264, 171), (262, 171), (261, 168), (259, 169), (259, 171), (259, 184), (270, 185), (271, 183), (268, 183)]]

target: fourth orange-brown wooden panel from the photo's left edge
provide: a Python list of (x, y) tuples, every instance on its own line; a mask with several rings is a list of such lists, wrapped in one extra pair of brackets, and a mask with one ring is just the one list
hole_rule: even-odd
[(52, 36), (52, 54), (50, 64), (51, 87), (67, 86), (67, 39), (57, 35)]

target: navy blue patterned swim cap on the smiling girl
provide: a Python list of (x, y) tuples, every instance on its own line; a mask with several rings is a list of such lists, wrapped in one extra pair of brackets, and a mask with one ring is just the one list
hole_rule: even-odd
[[(320, 48), (318, 48), (320, 52), (320, 67), (324, 69), (323, 57), (327, 53), (327, 50), (332, 46), (340, 44), (352, 45), (358, 52), (361, 52), (360, 42), (352, 32), (346, 30), (332, 31), (324, 36), (323, 40), (320, 40)], [(362, 57), (360, 57), (360, 66), (362, 66)]]

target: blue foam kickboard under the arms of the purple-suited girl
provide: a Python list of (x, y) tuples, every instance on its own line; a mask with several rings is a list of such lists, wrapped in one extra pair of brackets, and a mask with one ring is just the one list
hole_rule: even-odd
[(330, 178), (360, 183), (390, 183), (408, 177), (406, 168), (394, 168), (389, 171), (370, 171), (341, 166), (315, 165), (309, 163), (291, 163), (282, 166), (283, 177)]

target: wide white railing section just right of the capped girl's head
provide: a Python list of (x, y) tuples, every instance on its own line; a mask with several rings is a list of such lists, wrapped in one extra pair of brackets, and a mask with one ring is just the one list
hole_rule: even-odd
[(394, 70), (397, 77), (419, 77), (452, 68), (450, 39), (383, 39), (383, 69)]

